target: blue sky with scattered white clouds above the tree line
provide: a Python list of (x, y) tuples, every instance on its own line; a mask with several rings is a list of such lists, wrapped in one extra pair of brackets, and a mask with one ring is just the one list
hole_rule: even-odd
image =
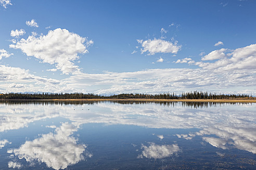
[(256, 1), (0, 0), (0, 93), (256, 95)]

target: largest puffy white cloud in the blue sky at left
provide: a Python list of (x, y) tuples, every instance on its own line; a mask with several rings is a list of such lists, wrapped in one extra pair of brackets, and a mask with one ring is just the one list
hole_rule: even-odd
[(44, 63), (53, 64), (63, 74), (79, 74), (79, 66), (73, 61), (79, 59), (78, 53), (87, 53), (87, 47), (92, 45), (87, 40), (66, 29), (49, 31), (47, 35), (31, 35), (28, 39), (21, 39), (10, 48), (21, 49), (28, 56), (34, 56)]

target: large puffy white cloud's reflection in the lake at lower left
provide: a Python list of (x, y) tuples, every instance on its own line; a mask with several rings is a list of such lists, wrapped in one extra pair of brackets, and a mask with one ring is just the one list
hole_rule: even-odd
[[(67, 168), (84, 159), (82, 153), (86, 145), (76, 144), (77, 139), (71, 136), (77, 129), (78, 127), (74, 124), (63, 123), (56, 129), (55, 134), (43, 134), (42, 137), (33, 141), (26, 141), (13, 152), (19, 159), (24, 158), (27, 162), (36, 160), (54, 169)], [(90, 153), (85, 155), (92, 157)]]

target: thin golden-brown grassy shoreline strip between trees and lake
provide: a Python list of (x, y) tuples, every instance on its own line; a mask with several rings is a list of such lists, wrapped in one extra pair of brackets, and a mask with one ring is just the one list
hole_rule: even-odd
[(125, 102), (212, 102), (212, 103), (256, 103), (255, 99), (144, 99), (144, 98), (79, 98), (79, 99), (46, 99), (46, 100), (0, 100), (0, 101), (54, 101), (54, 102), (88, 102), (88, 101), (125, 101)]

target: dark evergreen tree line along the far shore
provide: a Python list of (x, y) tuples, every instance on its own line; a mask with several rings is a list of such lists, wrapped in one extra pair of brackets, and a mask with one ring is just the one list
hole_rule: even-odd
[(94, 93), (0, 93), (2, 100), (51, 100), (51, 99), (256, 99), (248, 94), (217, 94), (199, 91), (176, 93), (159, 93), (159, 94), (141, 94), (141, 93), (122, 93), (109, 96)]

